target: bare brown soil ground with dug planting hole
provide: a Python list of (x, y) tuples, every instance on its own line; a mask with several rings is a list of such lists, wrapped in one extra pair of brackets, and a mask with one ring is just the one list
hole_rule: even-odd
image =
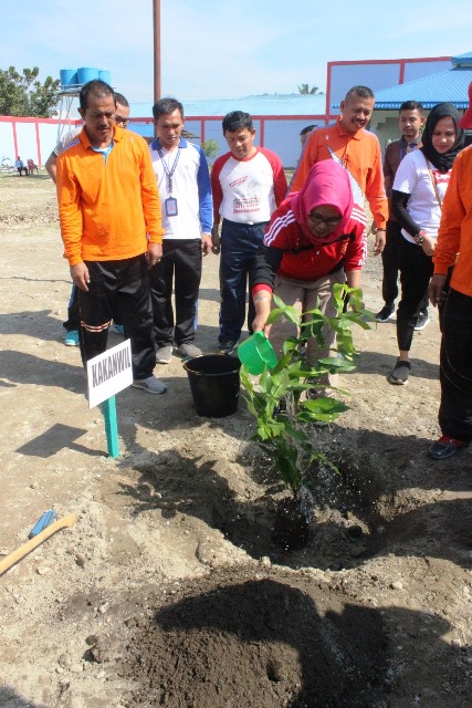
[[(310, 482), (315, 533), (271, 540), (284, 490), (252, 419), (196, 415), (181, 361), (164, 396), (117, 396), (108, 459), (78, 351), (63, 345), (70, 278), (52, 183), (0, 176), (0, 555), (42, 512), (75, 524), (0, 577), (2, 708), (471, 706), (472, 457), (438, 436), (439, 329), (390, 386), (395, 321), (356, 333), (352, 409), (314, 429), (340, 475)], [(197, 343), (217, 341), (208, 257)], [(380, 304), (369, 258), (367, 305)], [(111, 344), (119, 340), (111, 334)]]

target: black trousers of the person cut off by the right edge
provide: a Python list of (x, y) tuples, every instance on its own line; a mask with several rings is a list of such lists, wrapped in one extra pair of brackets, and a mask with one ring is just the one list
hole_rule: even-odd
[(472, 298), (452, 288), (442, 313), (440, 382), (442, 434), (472, 440)]

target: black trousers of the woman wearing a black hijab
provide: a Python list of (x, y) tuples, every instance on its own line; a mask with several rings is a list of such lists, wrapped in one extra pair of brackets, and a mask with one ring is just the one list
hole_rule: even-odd
[(433, 271), (432, 259), (421, 246), (402, 239), (400, 246), (401, 300), (397, 310), (398, 348), (409, 352), (415, 325)]

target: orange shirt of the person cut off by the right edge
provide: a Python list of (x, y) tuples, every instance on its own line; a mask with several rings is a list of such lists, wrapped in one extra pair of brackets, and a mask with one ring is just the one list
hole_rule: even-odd
[(441, 275), (457, 260), (451, 288), (472, 296), (472, 146), (459, 153), (452, 167), (432, 260), (434, 274)]

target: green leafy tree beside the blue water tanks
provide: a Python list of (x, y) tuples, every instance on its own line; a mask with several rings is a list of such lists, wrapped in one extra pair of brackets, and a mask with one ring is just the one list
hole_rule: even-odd
[(46, 76), (38, 81), (40, 70), (23, 69), (20, 74), (14, 66), (0, 69), (0, 115), (34, 116), (51, 118), (56, 115), (59, 79)]

